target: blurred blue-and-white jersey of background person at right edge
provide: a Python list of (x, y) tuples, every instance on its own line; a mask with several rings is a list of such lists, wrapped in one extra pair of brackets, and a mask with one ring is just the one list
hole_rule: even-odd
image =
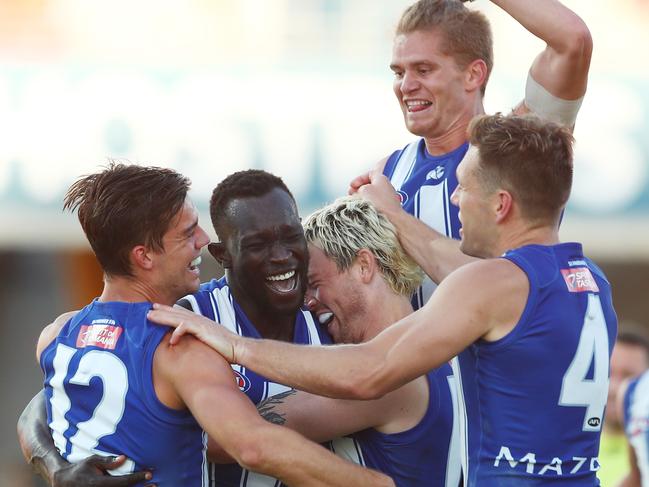
[(629, 383), (624, 395), (624, 430), (635, 452), (644, 487), (649, 486), (649, 372)]

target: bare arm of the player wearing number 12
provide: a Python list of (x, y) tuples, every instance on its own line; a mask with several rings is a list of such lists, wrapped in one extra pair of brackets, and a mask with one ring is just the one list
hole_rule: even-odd
[(223, 358), (193, 338), (183, 338), (174, 347), (161, 344), (154, 367), (161, 368), (163, 379), (170, 381), (208, 435), (245, 468), (289, 485), (394, 485), (385, 475), (264, 421), (236, 387)]

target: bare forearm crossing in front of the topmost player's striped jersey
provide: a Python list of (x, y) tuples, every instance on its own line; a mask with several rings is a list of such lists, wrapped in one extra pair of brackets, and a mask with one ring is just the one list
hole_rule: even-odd
[(404, 250), (438, 284), (458, 267), (475, 260), (462, 253), (459, 241), (433, 230), (404, 210), (386, 216), (397, 229)]

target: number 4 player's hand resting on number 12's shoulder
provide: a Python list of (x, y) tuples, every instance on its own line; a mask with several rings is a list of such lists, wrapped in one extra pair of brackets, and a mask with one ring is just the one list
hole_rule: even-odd
[(175, 345), (184, 334), (189, 333), (219, 352), (230, 363), (235, 363), (234, 340), (238, 337), (220, 324), (184, 308), (172, 308), (158, 303), (153, 305), (148, 318), (160, 325), (175, 328), (169, 339), (171, 345)]

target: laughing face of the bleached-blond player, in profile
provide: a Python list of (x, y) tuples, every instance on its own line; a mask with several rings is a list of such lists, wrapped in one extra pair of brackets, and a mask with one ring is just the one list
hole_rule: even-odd
[[(358, 326), (363, 316), (362, 285), (354, 281), (351, 268), (340, 271), (317, 245), (309, 244), (309, 309), (335, 343), (360, 343)], [(360, 318), (360, 320), (359, 320)]]

